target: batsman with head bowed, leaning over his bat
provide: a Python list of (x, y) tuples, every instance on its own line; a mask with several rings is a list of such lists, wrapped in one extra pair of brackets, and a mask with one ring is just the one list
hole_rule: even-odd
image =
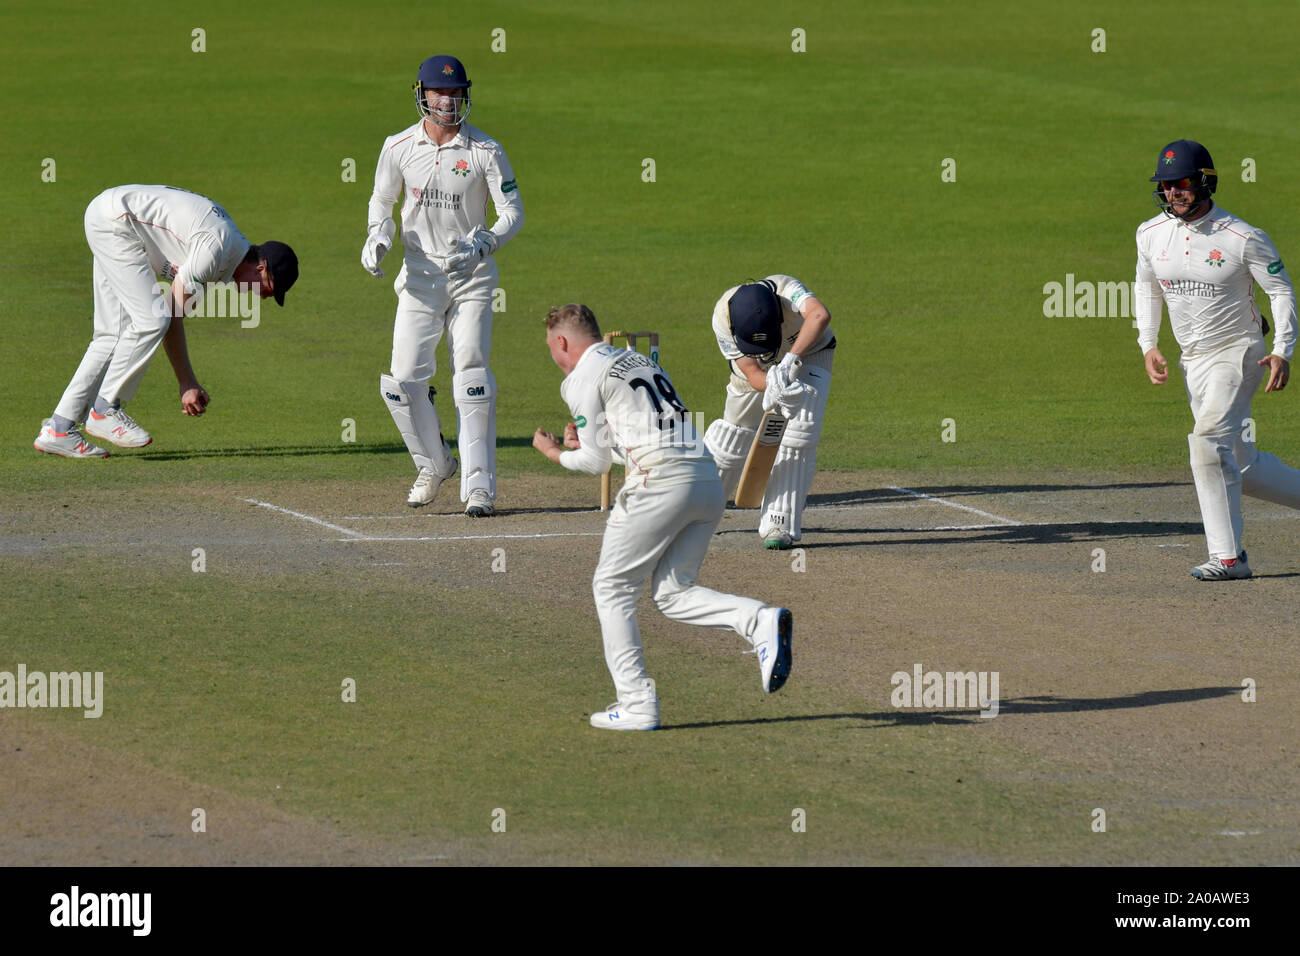
[(816, 471), (835, 334), (831, 312), (792, 276), (733, 286), (714, 306), (714, 334), (731, 363), (723, 418), (705, 433), (727, 497), (762, 507), (763, 546), (803, 536)]

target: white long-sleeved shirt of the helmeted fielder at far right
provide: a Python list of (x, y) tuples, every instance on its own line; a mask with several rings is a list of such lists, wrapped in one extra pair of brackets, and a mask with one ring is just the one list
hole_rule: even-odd
[(1160, 338), (1160, 302), (1183, 355), (1214, 351), (1264, 330), (1254, 287), (1273, 306), (1273, 352), (1291, 360), (1296, 345), (1296, 294), (1282, 256), (1266, 233), (1217, 206), (1195, 222), (1160, 213), (1138, 226), (1134, 316), (1143, 352)]

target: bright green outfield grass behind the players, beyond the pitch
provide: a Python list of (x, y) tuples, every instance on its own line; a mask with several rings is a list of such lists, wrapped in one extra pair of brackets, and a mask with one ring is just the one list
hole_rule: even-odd
[[(25, 450), (90, 336), (84, 206), (134, 181), (212, 195), (254, 241), (294, 242), (303, 268), (289, 308), (270, 306), (257, 329), (192, 324), (195, 367), (214, 395), (208, 419), (178, 418), (159, 358), (134, 406), (159, 445), (326, 449), (352, 418), (358, 442), (391, 457), (292, 457), (254, 472), (231, 457), (203, 468), (400, 470), (376, 395), (394, 297), (358, 256), (374, 157), (413, 122), (408, 87), (434, 48), (469, 64), (472, 118), (506, 146), (525, 202), (526, 225), (499, 256), (499, 431), (516, 440), (502, 450), (507, 471), (543, 467), (521, 440), (563, 415), (538, 332), (549, 306), (581, 299), (608, 326), (662, 332), (664, 364), (712, 418), (724, 377), (712, 303), (771, 271), (803, 278), (835, 317), (824, 467), (1178, 463), (1180, 388), (1147, 384), (1127, 320), (1044, 317), (1044, 284), (1131, 278), (1132, 232), (1153, 212), (1149, 166), (1178, 135), (1210, 146), (1227, 208), (1268, 229), (1284, 256), (1300, 247), (1286, 215), (1300, 200), (1300, 133), (1280, 121), (1286, 4), (1234, 17), (1186, 8), (1225, 48), (1251, 51), (1191, 86), (1176, 57), (1153, 56), (1149, 20), (1128, 4), (810, 14), (478, 4), (442, 31), (411, 29), (382, 5), (312, 9), (304, 18), (272, 4), (250, 35), (231, 16), (182, 5), (147, 40), (143, 8), (139, 18), (100, 4), (0, 13), (12, 64), (0, 81), (12, 104), (0, 147), (13, 224), (0, 239), (9, 480), (65, 480), (68, 470)], [(205, 53), (190, 52), (191, 21), (207, 30)], [(1105, 53), (1089, 51), (1096, 26)], [(507, 31), (504, 53), (489, 51), (494, 27)], [(794, 27), (807, 31), (806, 53), (790, 52)], [(55, 183), (40, 181), (46, 156), (58, 164)], [(1245, 156), (1258, 182), (1235, 174)], [(641, 179), (645, 157), (653, 183)], [(355, 183), (341, 181), (344, 159), (356, 160)], [(940, 181), (944, 159), (956, 160), (956, 182)], [(1270, 395), (1257, 411), (1261, 441), (1294, 458), (1300, 410), (1288, 399)], [(956, 445), (940, 441), (945, 418)], [(177, 459), (155, 480), (192, 468)]]

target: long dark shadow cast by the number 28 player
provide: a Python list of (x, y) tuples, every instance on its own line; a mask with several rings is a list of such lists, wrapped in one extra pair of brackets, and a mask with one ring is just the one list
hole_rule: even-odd
[(858, 721), (863, 726), (857, 730), (879, 730), (881, 727), (911, 727), (933, 723), (980, 724), (1008, 715), (1071, 714), (1082, 710), (1127, 710), (1131, 708), (1153, 708), (1162, 704), (1191, 704), (1193, 701), (1230, 697), (1239, 695), (1240, 687), (1191, 687), (1182, 691), (1141, 691), (1126, 697), (1010, 697), (998, 702), (997, 717), (980, 717), (978, 709), (966, 710), (878, 710), (857, 714), (798, 714), (792, 717), (759, 717), (751, 721), (707, 721), (699, 723), (664, 724), (666, 730), (705, 730), (708, 727), (738, 727), (764, 723), (801, 723), (805, 721)]

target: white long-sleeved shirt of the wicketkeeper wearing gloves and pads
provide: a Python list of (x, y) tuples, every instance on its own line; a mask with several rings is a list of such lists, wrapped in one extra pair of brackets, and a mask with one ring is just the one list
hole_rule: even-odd
[(497, 248), (524, 225), (524, 200), (500, 143), (462, 124), (446, 146), (438, 146), (421, 120), (384, 140), (374, 168), (369, 230), (393, 215), (402, 196), (402, 246), (408, 261), (443, 258), (456, 239), (488, 225), (488, 196), (497, 208)]

